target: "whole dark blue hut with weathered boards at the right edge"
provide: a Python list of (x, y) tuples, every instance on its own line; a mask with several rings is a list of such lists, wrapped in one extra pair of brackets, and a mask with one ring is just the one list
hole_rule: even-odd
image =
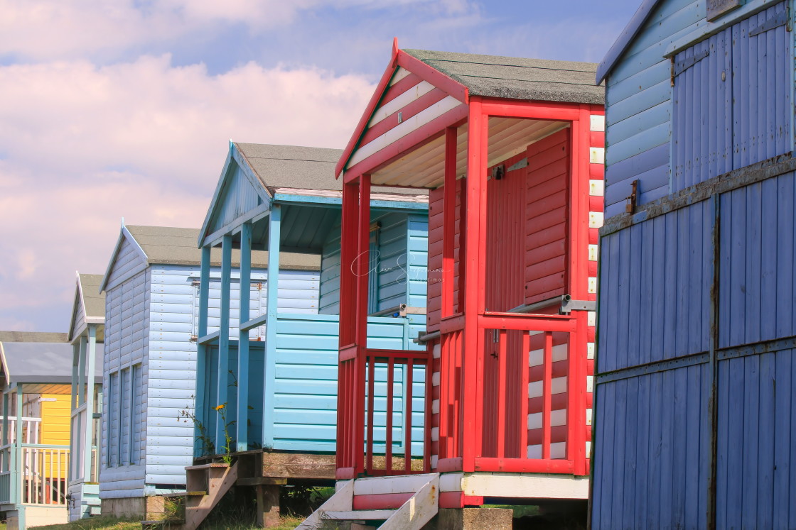
[(600, 64), (591, 528), (796, 528), (793, 8), (641, 2)]

